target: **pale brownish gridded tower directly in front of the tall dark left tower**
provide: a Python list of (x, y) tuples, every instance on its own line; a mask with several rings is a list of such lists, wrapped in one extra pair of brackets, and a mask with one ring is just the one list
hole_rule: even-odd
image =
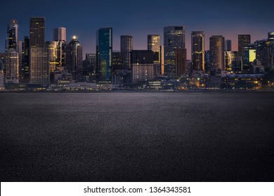
[(31, 48), (30, 83), (49, 84), (48, 52), (46, 48)]

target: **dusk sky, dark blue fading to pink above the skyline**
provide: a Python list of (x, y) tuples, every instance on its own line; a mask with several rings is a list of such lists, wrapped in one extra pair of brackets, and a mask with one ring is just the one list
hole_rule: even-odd
[[(119, 50), (119, 36), (131, 34), (133, 49), (146, 49), (148, 34), (160, 34), (171, 25), (186, 29), (186, 47), (190, 59), (191, 31), (205, 31), (205, 49), (209, 36), (231, 39), (237, 50), (237, 35), (251, 34), (252, 42), (267, 38), (274, 31), (273, 1), (183, 1), (183, 0), (105, 0), (105, 1), (1, 1), (0, 52), (4, 52), (6, 26), (18, 20), (20, 40), (29, 36), (30, 17), (46, 18), (46, 41), (52, 40), (53, 28), (66, 27), (67, 41), (73, 35), (83, 45), (84, 53), (96, 51), (96, 31), (113, 27), (114, 50)], [(163, 37), (161, 38), (163, 43)]]

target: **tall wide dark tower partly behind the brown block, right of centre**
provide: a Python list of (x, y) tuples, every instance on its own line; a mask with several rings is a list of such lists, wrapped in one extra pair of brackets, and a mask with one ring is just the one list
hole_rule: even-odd
[(164, 27), (164, 74), (166, 76), (176, 76), (175, 49), (181, 48), (185, 48), (184, 27)]

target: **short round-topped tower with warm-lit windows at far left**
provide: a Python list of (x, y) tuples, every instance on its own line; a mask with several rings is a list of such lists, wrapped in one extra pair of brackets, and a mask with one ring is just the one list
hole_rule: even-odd
[(6, 51), (6, 83), (19, 83), (19, 53), (14, 48)]

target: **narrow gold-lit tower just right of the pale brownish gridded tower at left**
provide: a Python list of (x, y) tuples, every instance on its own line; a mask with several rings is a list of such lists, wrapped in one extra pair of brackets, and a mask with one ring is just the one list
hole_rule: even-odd
[(48, 53), (49, 72), (56, 71), (57, 62), (57, 41), (46, 41), (46, 52)]

